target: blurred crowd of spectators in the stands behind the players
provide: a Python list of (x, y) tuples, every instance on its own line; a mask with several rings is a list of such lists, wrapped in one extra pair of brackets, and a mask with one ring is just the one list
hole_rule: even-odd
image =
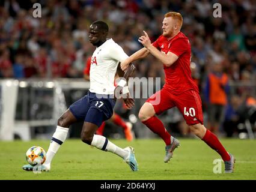
[[(32, 14), (36, 2), (42, 8), (40, 18)], [(222, 6), (218, 18), (213, 17), (215, 3)], [(200, 88), (204, 110), (211, 111), (212, 106), (217, 110), (209, 114), (208, 127), (215, 130), (234, 119), (239, 104), (255, 106), (254, 0), (0, 1), (0, 77), (83, 77), (94, 50), (88, 42), (90, 23), (107, 22), (109, 37), (131, 55), (142, 47), (138, 37), (143, 30), (152, 42), (156, 40), (162, 33), (163, 15), (169, 11), (183, 15), (181, 31), (192, 46), (192, 77)], [(164, 80), (162, 64), (153, 56), (135, 64), (134, 76)], [(231, 95), (230, 82), (241, 85)], [(211, 91), (219, 90), (222, 100), (213, 101)], [(221, 122), (215, 124), (216, 119)]]

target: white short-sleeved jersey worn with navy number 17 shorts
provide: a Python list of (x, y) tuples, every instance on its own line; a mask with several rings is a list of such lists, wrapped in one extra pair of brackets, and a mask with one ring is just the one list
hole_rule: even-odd
[(114, 94), (117, 65), (126, 58), (128, 55), (112, 38), (97, 47), (91, 57), (90, 92), (104, 95)]

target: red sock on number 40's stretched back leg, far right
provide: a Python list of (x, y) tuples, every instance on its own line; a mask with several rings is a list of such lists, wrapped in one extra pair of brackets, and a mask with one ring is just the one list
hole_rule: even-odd
[(204, 135), (202, 140), (206, 142), (206, 144), (209, 145), (210, 148), (218, 152), (218, 154), (221, 155), (222, 160), (224, 161), (230, 160), (230, 154), (228, 154), (224, 146), (219, 141), (218, 137), (215, 134), (213, 134), (211, 131), (206, 130), (206, 134)]

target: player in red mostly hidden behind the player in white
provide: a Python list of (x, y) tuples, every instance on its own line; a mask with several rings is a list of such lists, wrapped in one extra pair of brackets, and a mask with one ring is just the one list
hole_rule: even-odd
[[(90, 81), (90, 68), (91, 68), (91, 57), (88, 57), (86, 66), (84, 68), (84, 79)], [(117, 75), (117, 74), (116, 74)], [(116, 83), (114, 82), (115, 86)], [(123, 128), (124, 136), (126, 137), (127, 141), (132, 141), (134, 139), (134, 133), (132, 131), (132, 124), (130, 122), (125, 122), (117, 113), (113, 112), (113, 115), (109, 119), (110, 121), (114, 122), (115, 125), (118, 125)], [(105, 129), (105, 121), (100, 125), (97, 129), (96, 134), (103, 135)]]

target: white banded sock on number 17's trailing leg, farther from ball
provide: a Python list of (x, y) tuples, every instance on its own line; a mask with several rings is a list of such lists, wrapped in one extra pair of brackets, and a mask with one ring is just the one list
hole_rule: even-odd
[(129, 155), (129, 152), (118, 147), (114, 143), (111, 143), (108, 139), (106, 139), (106, 137), (100, 136), (98, 134), (94, 134), (91, 146), (95, 146), (96, 148), (101, 149), (102, 151), (109, 151), (114, 154), (117, 154), (123, 159), (127, 158)]

